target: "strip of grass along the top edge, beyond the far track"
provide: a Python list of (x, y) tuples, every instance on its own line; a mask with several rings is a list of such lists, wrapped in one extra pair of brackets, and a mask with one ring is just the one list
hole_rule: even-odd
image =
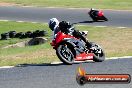
[(22, 5), (132, 10), (132, 0), (1, 0)]

